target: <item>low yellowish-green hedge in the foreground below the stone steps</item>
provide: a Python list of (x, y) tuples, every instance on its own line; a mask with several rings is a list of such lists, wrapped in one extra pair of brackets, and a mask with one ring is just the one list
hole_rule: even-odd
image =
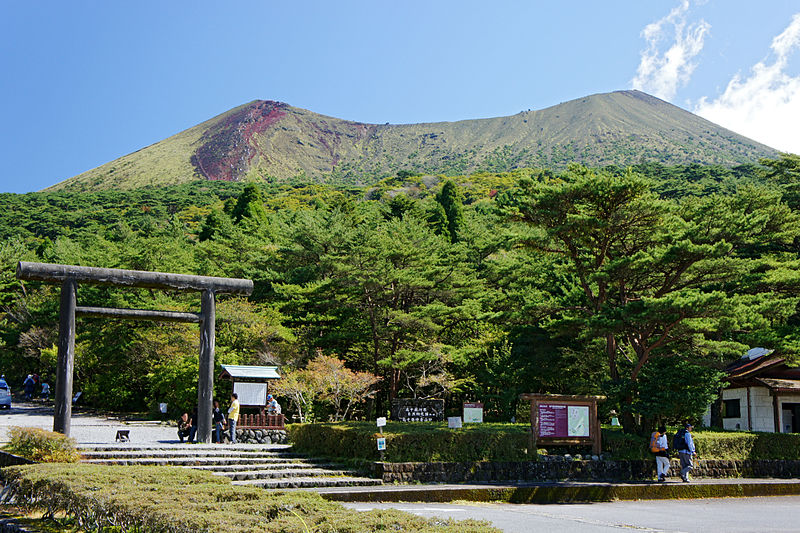
[(39, 464), (3, 469), (6, 498), (65, 513), (86, 531), (498, 531), (476, 520), (426, 519), (396, 510), (353, 512), (319, 494), (231, 485), (225, 477), (159, 466)]

